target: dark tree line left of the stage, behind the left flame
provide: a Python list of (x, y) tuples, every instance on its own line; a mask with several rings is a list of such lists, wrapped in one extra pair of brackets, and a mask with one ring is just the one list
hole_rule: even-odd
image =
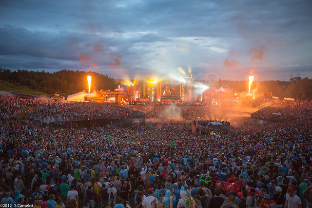
[(87, 76), (92, 77), (91, 92), (93, 90), (114, 90), (118, 87), (116, 80), (97, 72), (60, 70), (49, 73), (45, 71), (20, 70), (11, 71), (0, 68), (0, 80), (13, 80), (21, 86), (55, 91), (67, 95), (80, 91), (88, 91)]

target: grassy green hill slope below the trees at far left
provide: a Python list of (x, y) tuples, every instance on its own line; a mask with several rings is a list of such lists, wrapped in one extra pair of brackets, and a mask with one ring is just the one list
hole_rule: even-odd
[(49, 95), (48, 93), (44, 93), (44, 92), (33, 90), (33, 89), (28, 89), (26, 87), (19, 86), (19, 84), (16, 84), (16, 83), (0, 83), (0, 91), (15, 92), (18, 94), (34, 95), (34, 96), (40, 96), (40, 97), (53, 97), (52, 95)]

